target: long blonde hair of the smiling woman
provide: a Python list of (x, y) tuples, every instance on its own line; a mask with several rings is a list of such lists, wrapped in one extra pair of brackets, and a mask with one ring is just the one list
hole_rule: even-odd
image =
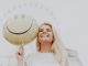
[[(53, 30), (53, 44), (52, 44), (52, 53), (54, 54), (55, 59), (61, 64), (61, 66), (68, 66), (67, 53), (61, 38), (58, 37), (55, 29), (50, 23), (43, 23), (44, 25), (51, 26)], [(38, 37), (38, 36), (37, 36)], [(40, 51), (38, 38), (36, 38), (37, 51)]]

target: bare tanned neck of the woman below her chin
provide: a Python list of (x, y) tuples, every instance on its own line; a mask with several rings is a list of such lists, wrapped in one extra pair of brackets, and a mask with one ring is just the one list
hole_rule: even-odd
[(51, 43), (42, 43), (40, 47), (41, 53), (51, 53)]

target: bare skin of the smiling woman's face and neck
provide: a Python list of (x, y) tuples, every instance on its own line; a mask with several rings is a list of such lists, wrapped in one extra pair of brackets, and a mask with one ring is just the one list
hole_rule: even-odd
[(41, 53), (50, 53), (53, 41), (53, 30), (50, 25), (43, 24), (38, 30), (38, 43)]

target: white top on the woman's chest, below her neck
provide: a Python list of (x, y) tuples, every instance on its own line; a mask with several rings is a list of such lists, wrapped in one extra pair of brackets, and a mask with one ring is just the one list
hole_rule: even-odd
[(53, 53), (35, 53), (26, 58), (28, 66), (61, 66), (54, 58)]

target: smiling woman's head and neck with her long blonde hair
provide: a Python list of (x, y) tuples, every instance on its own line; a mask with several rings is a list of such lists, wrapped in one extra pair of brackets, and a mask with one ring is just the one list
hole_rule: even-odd
[(40, 53), (52, 53), (61, 66), (68, 66), (66, 50), (50, 23), (40, 26), (36, 45)]

